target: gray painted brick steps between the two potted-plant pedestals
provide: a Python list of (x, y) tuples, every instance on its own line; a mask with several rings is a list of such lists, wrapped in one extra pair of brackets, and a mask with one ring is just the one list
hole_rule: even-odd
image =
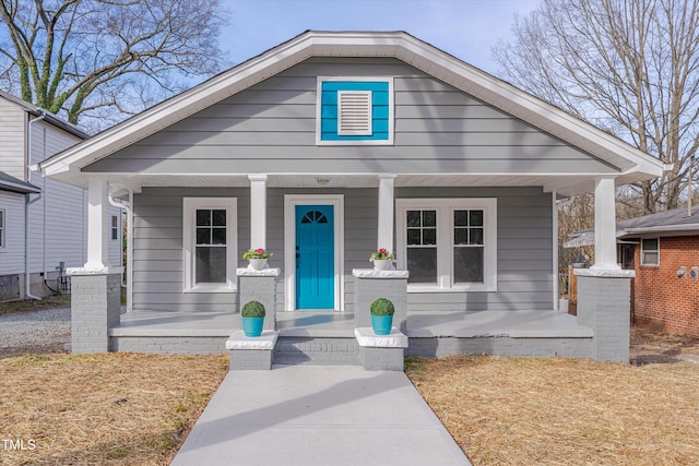
[(272, 358), (275, 365), (362, 366), (354, 336), (280, 336)]

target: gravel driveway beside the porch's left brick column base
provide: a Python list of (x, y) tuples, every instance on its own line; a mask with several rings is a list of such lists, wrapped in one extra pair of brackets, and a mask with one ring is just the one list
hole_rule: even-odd
[(70, 308), (0, 314), (0, 358), (62, 351), (70, 342)]

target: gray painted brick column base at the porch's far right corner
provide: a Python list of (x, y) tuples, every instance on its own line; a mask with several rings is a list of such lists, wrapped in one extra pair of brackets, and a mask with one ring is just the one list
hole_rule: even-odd
[(574, 270), (578, 323), (592, 328), (592, 358), (629, 361), (629, 322), (633, 271)]

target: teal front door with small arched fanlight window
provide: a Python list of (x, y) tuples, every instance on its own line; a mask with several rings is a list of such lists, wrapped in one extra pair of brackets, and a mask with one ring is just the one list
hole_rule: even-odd
[(332, 205), (296, 206), (296, 308), (334, 309)]

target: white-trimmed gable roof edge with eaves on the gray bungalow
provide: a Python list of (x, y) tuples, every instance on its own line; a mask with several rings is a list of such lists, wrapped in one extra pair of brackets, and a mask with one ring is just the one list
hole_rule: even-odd
[(391, 57), (592, 154), (619, 169), (617, 183), (659, 177), (664, 165), (624, 141), (404, 32), (308, 31), (40, 164), (84, 184), (80, 170), (310, 57)]

